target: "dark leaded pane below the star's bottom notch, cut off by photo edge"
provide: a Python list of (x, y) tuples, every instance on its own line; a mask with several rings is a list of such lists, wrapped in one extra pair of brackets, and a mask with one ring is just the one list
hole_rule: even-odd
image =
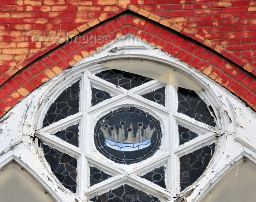
[(160, 200), (153, 195), (148, 195), (143, 191), (135, 189), (129, 185), (122, 185), (117, 189), (96, 196), (90, 201), (93, 202), (159, 202)]

